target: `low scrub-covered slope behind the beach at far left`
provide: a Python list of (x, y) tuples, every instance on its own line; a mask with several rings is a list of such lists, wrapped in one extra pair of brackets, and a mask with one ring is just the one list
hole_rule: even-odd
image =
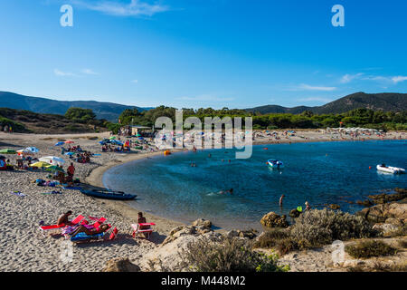
[[(99, 123), (98, 123), (99, 122)], [(96, 125), (98, 124), (98, 125)], [(40, 114), (33, 111), (0, 108), (0, 126), (12, 126), (14, 132), (38, 134), (64, 134), (106, 131), (102, 122), (80, 123), (63, 115)]]

